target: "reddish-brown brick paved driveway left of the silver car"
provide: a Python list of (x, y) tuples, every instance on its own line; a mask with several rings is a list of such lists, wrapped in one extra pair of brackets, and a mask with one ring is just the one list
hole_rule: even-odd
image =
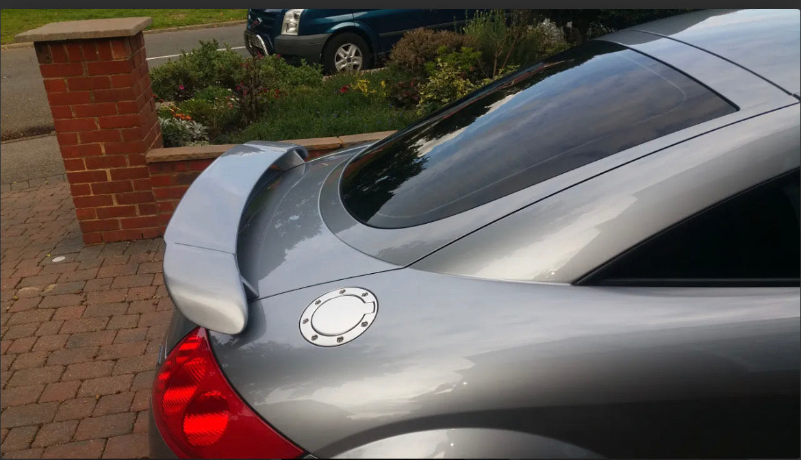
[(84, 246), (63, 182), (2, 192), (0, 208), (0, 454), (146, 456), (172, 309), (163, 240)]

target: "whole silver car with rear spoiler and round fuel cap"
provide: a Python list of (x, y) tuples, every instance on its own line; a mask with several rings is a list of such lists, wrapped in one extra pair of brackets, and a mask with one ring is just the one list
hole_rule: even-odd
[(799, 10), (586, 42), (172, 216), (151, 457), (799, 456)]

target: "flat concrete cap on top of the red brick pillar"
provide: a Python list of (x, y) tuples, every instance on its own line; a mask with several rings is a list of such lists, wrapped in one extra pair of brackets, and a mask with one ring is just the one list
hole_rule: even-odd
[(153, 18), (87, 19), (84, 21), (50, 22), (14, 37), (16, 42), (57, 42), (90, 38), (131, 37), (145, 30)]

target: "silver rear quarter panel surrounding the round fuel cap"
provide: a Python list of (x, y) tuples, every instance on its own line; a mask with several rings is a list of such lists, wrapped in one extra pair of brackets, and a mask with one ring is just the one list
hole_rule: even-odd
[[(370, 328), (332, 348), (304, 340), (306, 306), (348, 286), (375, 293)], [(244, 399), (320, 457), (471, 427), (604, 456), (757, 457), (797, 452), (798, 304), (797, 288), (589, 288), (405, 268), (257, 301), (244, 333), (211, 341)], [(497, 446), (490, 457), (509, 455)]]

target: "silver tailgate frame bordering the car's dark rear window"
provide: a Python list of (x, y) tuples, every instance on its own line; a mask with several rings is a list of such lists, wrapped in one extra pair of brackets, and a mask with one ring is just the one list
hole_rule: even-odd
[(392, 264), (411, 264), (463, 236), (465, 228), (481, 228), (573, 184), (655, 151), (662, 151), (686, 139), (798, 103), (798, 99), (788, 95), (787, 91), (780, 90), (758, 75), (734, 66), (725, 59), (668, 38), (625, 30), (603, 39), (642, 51), (654, 59), (681, 69), (687, 75), (714, 88), (719, 95), (735, 104), (739, 111), (642, 143), (455, 216), (409, 228), (372, 228), (353, 219), (341, 205), (339, 188), (336, 186), (340, 170), (344, 167), (342, 164), (339, 170), (328, 177), (320, 197), (325, 223), (340, 240), (353, 248)]

